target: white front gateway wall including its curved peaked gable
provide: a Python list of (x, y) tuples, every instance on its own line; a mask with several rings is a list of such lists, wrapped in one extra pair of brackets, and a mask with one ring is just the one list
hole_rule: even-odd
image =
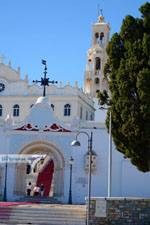
[[(44, 119), (39, 120), (39, 116)], [(88, 190), (86, 173), (86, 154), (88, 140), (85, 134), (80, 134), (80, 147), (72, 147), (77, 131), (93, 132), (93, 151), (96, 155), (95, 171), (92, 173), (92, 196), (107, 197), (108, 186), (108, 143), (109, 137), (103, 124), (97, 122), (74, 121), (66, 126), (56, 120), (48, 103), (48, 98), (40, 98), (31, 109), (28, 118), (22, 123), (13, 125), (8, 118), (1, 126), (1, 154), (47, 154), (54, 161), (53, 193), (61, 202), (68, 202), (69, 195), (69, 158), (74, 159), (72, 174), (73, 203), (84, 203)], [(30, 124), (30, 128), (27, 128)], [(53, 124), (64, 129), (50, 129)], [(32, 128), (36, 127), (36, 131)], [(20, 129), (21, 128), (21, 129)], [(143, 174), (133, 167), (129, 160), (123, 159), (122, 154), (113, 146), (112, 159), (112, 196), (115, 197), (149, 197), (150, 175)], [(0, 164), (0, 190), (4, 191), (5, 163)], [(25, 195), (26, 164), (8, 163), (7, 170), (7, 199), (15, 200)]]

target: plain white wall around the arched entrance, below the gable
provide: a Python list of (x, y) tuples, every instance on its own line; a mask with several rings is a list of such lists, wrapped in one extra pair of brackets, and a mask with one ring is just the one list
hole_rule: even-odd
[[(88, 126), (88, 123), (87, 123)], [(104, 127), (97, 129), (81, 129), (89, 133), (93, 131), (93, 150), (97, 155), (96, 174), (92, 174), (91, 196), (107, 197), (108, 189), (108, 149), (109, 135)], [(74, 158), (72, 174), (72, 199), (74, 204), (84, 203), (88, 190), (88, 176), (85, 173), (85, 154), (88, 150), (88, 139), (85, 134), (80, 134), (78, 140), (80, 147), (72, 147), (70, 144), (76, 132), (71, 133), (43, 133), (43, 132), (0, 132), (1, 153), (16, 154), (23, 146), (32, 141), (47, 141), (63, 154), (65, 159), (64, 170), (64, 198), (63, 202), (68, 202), (69, 196), (69, 157)], [(128, 159), (123, 159), (123, 155), (112, 148), (112, 196), (113, 197), (150, 197), (150, 173), (142, 173), (130, 164)], [(3, 165), (4, 166), (4, 165)], [(8, 168), (8, 186), (11, 187), (8, 197), (13, 199), (13, 187), (15, 173)], [(4, 174), (3, 174), (4, 177)], [(4, 179), (3, 179), (4, 182)], [(4, 188), (4, 183), (2, 189)]]

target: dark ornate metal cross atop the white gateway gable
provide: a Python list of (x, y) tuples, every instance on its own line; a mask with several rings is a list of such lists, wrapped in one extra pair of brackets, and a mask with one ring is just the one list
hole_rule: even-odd
[(44, 89), (43, 89), (43, 96), (45, 97), (46, 96), (46, 86), (49, 86), (49, 84), (57, 84), (58, 82), (57, 81), (49, 81), (49, 78), (46, 78), (46, 74), (47, 74), (47, 66), (46, 66), (46, 60), (43, 60), (42, 59), (42, 64), (45, 65), (45, 68), (44, 68), (44, 78), (41, 78), (41, 80), (33, 80), (33, 83), (41, 83), (41, 86), (44, 86)]

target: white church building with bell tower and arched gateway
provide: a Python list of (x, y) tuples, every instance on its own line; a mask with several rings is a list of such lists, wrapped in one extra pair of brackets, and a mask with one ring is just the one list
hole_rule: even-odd
[[(99, 122), (96, 96), (108, 89), (103, 69), (110, 26), (103, 15), (92, 24), (92, 44), (87, 52), (84, 91), (78, 82), (63, 86), (62, 81), (46, 87), (30, 85), (11, 62), (0, 62), (0, 199), (8, 201), (26, 195), (26, 185), (45, 186), (45, 196), (67, 203), (70, 188), (69, 159), (72, 165), (72, 202), (85, 203), (88, 192), (88, 138), (78, 135), (80, 147), (71, 143), (78, 132), (93, 133), (91, 196), (108, 196), (109, 134)], [(6, 157), (4, 157), (4, 155)], [(10, 161), (10, 156), (41, 155), (31, 162)], [(4, 160), (3, 159), (7, 160)], [(33, 193), (32, 193), (33, 194)], [(150, 198), (150, 174), (142, 173), (112, 145), (112, 197)]]

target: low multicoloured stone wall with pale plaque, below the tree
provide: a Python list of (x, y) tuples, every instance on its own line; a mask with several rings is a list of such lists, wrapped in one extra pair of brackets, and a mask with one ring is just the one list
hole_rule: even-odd
[(97, 197), (90, 203), (90, 225), (150, 224), (150, 199)]

